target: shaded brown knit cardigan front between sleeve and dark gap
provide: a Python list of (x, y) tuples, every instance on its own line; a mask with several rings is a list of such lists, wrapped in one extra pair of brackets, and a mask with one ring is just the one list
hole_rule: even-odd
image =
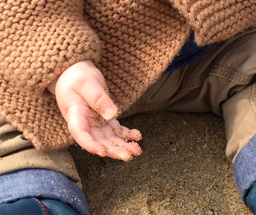
[(101, 39), (96, 66), (121, 112), (160, 77), (191, 33), (178, 10), (160, 0), (86, 0), (84, 15)]

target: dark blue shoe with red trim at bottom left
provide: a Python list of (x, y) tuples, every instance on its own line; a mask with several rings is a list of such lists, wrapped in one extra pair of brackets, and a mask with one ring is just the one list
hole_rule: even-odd
[(26, 198), (0, 204), (1, 215), (79, 215), (63, 202), (51, 199)]

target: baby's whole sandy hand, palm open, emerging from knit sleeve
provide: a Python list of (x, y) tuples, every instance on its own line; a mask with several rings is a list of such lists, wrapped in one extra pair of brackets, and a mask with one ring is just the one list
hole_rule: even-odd
[(142, 151), (137, 143), (127, 140), (138, 141), (141, 134), (114, 119), (117, 108), (104, 86), (101, 72), (85, 60), (65, 70), (48, 89), (56, 95), (68, 130), (82, 148), (99, 156), (129, 161)]

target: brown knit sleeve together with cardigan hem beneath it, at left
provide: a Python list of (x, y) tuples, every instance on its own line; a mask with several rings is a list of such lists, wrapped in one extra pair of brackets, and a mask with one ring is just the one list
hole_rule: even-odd
[(81, 60), (100, 56), (83, 0), (0, 1), (0, 109), (40, 150), (72, 144), (46, 86)]

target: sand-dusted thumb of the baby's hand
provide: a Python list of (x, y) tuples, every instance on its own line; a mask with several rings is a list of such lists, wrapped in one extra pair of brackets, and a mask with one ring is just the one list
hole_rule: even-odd
[(85, 81), (80, 86), (82, 87), (74, 89), (85, 99), (91, 109), (106, 120), (114, 119), (117, 116), (117, 107), (96, 77), (91, 77), (90, 81)]

